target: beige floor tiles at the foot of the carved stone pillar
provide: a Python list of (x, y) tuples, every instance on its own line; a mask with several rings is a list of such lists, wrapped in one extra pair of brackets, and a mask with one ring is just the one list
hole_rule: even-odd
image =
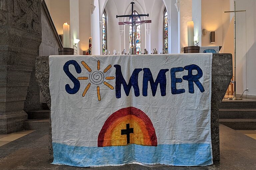
[(14, 141), (22, 136), (25, 136), (33, 131), (34, 130), (23, 130), (20, 132), (15, 132), (15, 133), (7, 134), (7, 135), (0, 135), (0, 146), (3, 146), (11, 141)]

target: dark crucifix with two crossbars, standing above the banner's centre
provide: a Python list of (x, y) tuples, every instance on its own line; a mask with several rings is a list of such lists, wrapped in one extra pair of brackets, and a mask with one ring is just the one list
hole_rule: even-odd
[(145, 21), (138, 21), (140, 17), (144, 16), (149, 16), (149, 14), (133, 14), (133, 4), (134, 2), (131, 2), (132, 4), (132, 13), (131, 15), (116, 15), (116, 18), (119, 17), (129, 17), (130, 22), (119, 22), (118, 25), (129, 25), (132, 27), (132, 36), (131, 36), (131, 41), (132, 45), (130, 47), (131, 49), (131, 54), (136, 54), (136, 37), (137, 37), (137, 26), (144, 24), (144, 23), (151, 23), (151, 20), (145, 20)]

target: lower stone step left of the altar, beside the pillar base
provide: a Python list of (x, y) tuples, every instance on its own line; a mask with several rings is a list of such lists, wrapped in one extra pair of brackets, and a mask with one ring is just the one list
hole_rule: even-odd
[(28, 119), (24, 122), (25, 130), (48, 130), (49, 119)]

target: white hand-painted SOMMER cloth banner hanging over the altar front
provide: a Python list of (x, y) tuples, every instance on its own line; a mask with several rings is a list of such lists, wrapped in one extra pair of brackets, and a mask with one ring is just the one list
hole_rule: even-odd
[(52, 164), (213, 163), (211, 53), (49, 62)]

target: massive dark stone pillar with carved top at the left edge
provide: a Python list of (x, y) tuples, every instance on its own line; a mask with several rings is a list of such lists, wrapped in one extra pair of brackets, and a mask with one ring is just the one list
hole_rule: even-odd
[(41, 44), (40, 7), (41, 0), (0, 0), (0, 134), (22, 130), (27, 119), (24, 101)]

